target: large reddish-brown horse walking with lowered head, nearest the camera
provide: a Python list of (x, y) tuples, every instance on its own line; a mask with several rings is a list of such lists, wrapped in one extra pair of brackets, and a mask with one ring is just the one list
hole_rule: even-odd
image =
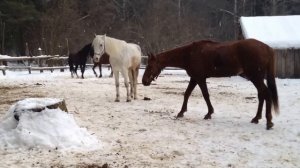
[[(274, 75), (274, 51), (268, 45), (254, 39), (224, 43), (199, 41), (156, 56), (150, 54), (143, 75), (143, 85), (149, 86), (165, 67), (185, 69), (191, 77), (177, 118), (183, 117), (187, 111), (188, 99), (198, 84), (208, 107), (204, 119), (211, 119), (214, 109), (209, 99), (206, 78), (241, 75), (249, 79), (258, 91), (258, 110), (251, 122), (257, 124), (261, 119), (265, 100), (267, 129), (273, 127), (272, 105), (275, 112), (278, 113), (279, 110)], [(265, 77), (267, 86), (264, 83)]]

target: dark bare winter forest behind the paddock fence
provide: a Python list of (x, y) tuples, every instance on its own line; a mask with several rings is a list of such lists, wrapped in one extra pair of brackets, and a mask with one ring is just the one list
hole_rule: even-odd
[(0, 54), (66, 55), (106, 34), (160, 52), (241, 38), (240, 16), (300, 14), (300, 0), (1, 0)]

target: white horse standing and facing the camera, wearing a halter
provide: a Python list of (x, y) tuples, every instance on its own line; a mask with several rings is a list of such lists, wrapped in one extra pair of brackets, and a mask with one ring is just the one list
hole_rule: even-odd
[[(99, 62), (104, 53), (110, 56), (109, 62), (115, 76), (117, 90), (115, 101), (120, 101), (119, 72), (124, 77), (127, 102), (130, 102), (132, 97), (137, 99), (137, 78), (142, 55), (140, 46), (106, 35), (95, 35), (92, 46), (94, 48), (93, 59), (95, 62)], [(128, 79), (130, 81), (130, 93)]]

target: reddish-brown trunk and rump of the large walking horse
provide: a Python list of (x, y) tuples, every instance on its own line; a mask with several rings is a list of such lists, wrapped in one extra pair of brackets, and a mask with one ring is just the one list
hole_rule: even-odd
[(234, 76), (264, 70), (273, 56), (272, 48), (255, 39), (204, 42), (196, 47), (198, 50), (194, 49), (190, 60), (191, 64), (196, 65), (193, 71), (201, 69), (208, 76)]

